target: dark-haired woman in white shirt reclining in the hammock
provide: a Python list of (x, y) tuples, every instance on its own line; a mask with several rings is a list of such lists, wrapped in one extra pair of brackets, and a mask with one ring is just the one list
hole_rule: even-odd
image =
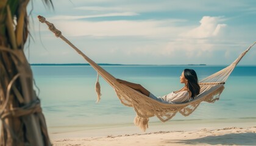
[(158, 100), (160, 102), (165, 103), (183, 103), (188, 102), (190, 98), (194, 99), (199, 92), (200, 86), (198, 85), (198, 79), (196, 72), (193, 69), (184, 69), (182, 74), (180, 75), (180, 83), (184, 83), (185, 86), (179, 91), (174, 91), (163, 97), (155, 97), (154, 94), (149, 92), (140, 84), (130, 83), (125, 80), (116, 79), (119, 83), (123, 83), (124, 85), (133, 88), (145, 96), (151, 97), (152, 99)]

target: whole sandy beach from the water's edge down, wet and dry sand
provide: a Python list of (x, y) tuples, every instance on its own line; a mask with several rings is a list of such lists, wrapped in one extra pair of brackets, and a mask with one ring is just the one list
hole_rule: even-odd
[[(51, 133), (53, 145), (256, 145), (255, 122), (202, 125), (152, 125)], [(230, 127), (228, 126), (230, 125)], [(233, 127), (240, 125), (239, 127)], [(203, 128), (204, 127), (204, 128)], [(137, 129), (136, 129), (137, 128)], [(126, 134), (125, 134), (126, 133)], [(97, 136), (97, 134), (99, 136)]]

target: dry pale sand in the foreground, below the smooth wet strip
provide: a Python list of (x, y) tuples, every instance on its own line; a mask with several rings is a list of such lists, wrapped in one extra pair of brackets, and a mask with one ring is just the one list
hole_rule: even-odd
[(66, 138), (53, 145), (256, 145), (256, 127), (199, 131), (159, 131), (106, 137)]

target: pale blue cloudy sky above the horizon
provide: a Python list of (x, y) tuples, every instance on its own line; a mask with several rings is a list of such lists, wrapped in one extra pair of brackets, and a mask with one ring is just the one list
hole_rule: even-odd
[[(30, 1), (30, 63), (87, 63), (40, 24), (53, 23), (96, 63), (226, 65), (256, 41), (255, 0)], [(240, 61), (256, 65), (256, 45)]]

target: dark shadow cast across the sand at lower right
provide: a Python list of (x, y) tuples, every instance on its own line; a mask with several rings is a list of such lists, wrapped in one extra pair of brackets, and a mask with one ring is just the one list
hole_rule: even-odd
[(166, 143), (176, 141), (177, 144), (183, 145), (256, 145), (256, 133), (231, 133), (221, 136), (206, 136), (199, 139), (171, 140)]

